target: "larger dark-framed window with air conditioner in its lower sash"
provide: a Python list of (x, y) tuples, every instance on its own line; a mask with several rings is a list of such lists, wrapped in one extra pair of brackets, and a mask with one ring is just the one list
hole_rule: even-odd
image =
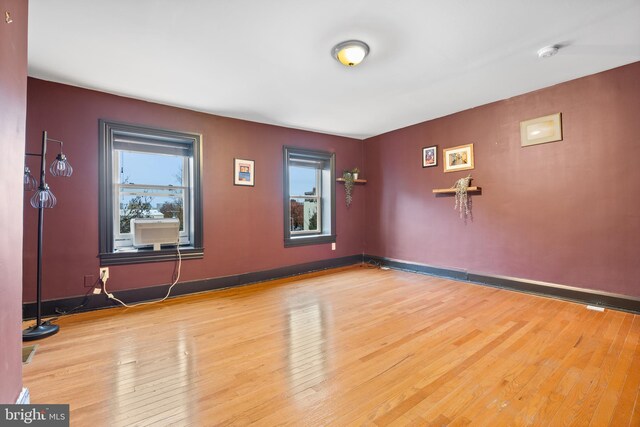
[(183, 258), (202, 257), (200, 135), (100, 121), (102, 265), (166, 261), (133, 246), (133, 218), (176, 218)]

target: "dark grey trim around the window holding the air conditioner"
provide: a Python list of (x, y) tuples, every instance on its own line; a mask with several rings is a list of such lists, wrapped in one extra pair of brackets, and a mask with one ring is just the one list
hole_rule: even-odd
[(99, 120), (98, 151), (98, 257), (100, 265), (138, 264), (175, 260), (175, 249), (159, 251), (139, 249), (137, 252), (113, 252), (113, 142), (117, 136), (143, 137), (158, 141), (190, 144), (193, 155), (192, 188), (190, 198), (193, 203), (191, 216), (193, 242), (188, 247), (181, 247), (183, 259), (202, 258), (204, 255), (202, 232), (202, 135), (179, 132), (128, 123)]

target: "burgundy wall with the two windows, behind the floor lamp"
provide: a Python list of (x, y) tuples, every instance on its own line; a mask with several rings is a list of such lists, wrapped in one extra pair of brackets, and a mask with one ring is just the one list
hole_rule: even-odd
[[(84, 295), (84, 275), (97, 277), (98, 119), (197, 132), (203, 135), (205, 257), (184, 261), (181, 281), (268, 270), (360, 254), (363, 248), (365, 188), (345, 207), (336, 186), (337, 250), (330, 244), (284, 248), (282, 147), (333, 151), (336, 170), (362, 168), (362, 141), (223, 118), (101, 92), (29, 79), (27, 147), (41, 132), (64, 141), (74, 168), (70, 178), (48, 178), (58, 205), (45, 213), (44, 299)], [(50, 155), (53, 160), (53, 154)], [(256, 161), (256, 185), (233, 185), (233, 159)], [(49, 161), (49, 160), (48, 160)], [(26, 206), (26, 205), (25, 205)], [(35, 299), (35, 209), (24, 223), (24, 301)], [(170, 282), (174, 262), (110, 267), (110, 290)]]

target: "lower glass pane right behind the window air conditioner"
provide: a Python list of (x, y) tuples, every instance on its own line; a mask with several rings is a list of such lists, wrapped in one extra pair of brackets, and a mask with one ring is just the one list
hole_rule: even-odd
[(131, 232), (133, 218), (178, 218), (184, 231), (182, 197), (120, 195), (120, 233)]

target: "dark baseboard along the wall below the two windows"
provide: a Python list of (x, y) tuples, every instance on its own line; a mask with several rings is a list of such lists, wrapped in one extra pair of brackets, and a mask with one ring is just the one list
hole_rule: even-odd
[[(214, 277), (202, 280), (193, 280), (178, 283), (171, 291), (171, 297), (181, 295), (196, 294), (200, 292), (212, 291), (215, 289), (232, 288), (236, 286), (248, 285), (251, 283), (264, 282), (267, 280), (281, 279), (284, 277), (298, 276), (300, 274), (311, 273), (313, 271), (327, 270), (330, 268), (344, 267), (353, 264), (362, 263), (362, 255), (350, 255), (341, 258), (329, 258), (320, 261), (313, 261), (304, 264), (290, 265), (279, 267), (272, 270), (256, 271), (251, 273), (235, 274), (231, 276)], [(152, 301), (163, 298), (169, 290), (169, 284), (149, 286), (140, 289), (129, 289), (124, 291), (111, 291), (113, 295), (127, 303), (138, 303), (143, 301)], [(70, 310), (73, 307), (80, 306), (85, 298), (87, 302), (84, 307), (77, 310), (76, 313), (83, 311), (93, 311), (103, 308), (120, 307), (120, 304), (112, 301), (104, 294), (76, 296), (69, 298), (60, 298), (42, 302), (43, 316), (57, 316), (56, 308), (61, 310)], [(23, 319), (33, 319), (36, 316), (36, 303), (29, 302), (22, 304)]]

